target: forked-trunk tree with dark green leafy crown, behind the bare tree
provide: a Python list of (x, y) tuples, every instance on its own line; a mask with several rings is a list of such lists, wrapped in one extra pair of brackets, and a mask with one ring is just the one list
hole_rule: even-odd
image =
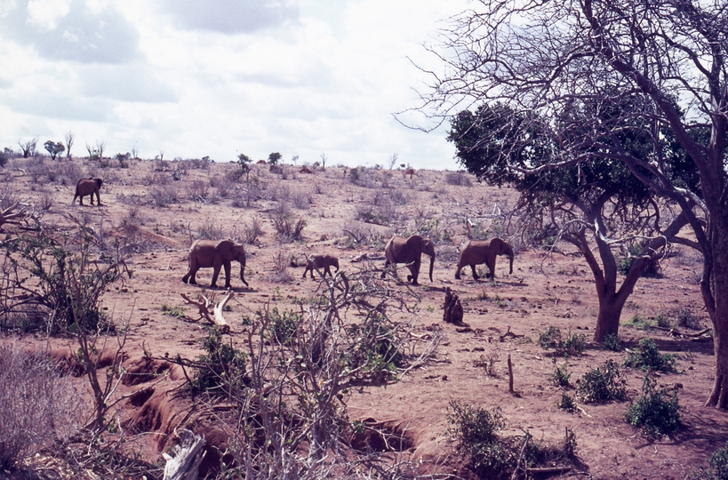
[[(619, 117), (620, 108), (626, 107), (603, 108), (604, 121)], [(557, 123), (576, 124), (572, 117), (581, 115), (580, 109), (571, 108), (559, 112)], [(451, 124), (447, 139), (455, 144), (468, 172), (492, 184), (513, 185), (521, 193), (525, 224), (554, 233), (580, 250), (594, 275), (599, 299), (594, 340), (603, 342), (606, 335), (616, 334), (622, 308), (644, 268), (662, 257), (668, 241), (679, 241), (676, 235), (686, 224), (685, 216), (660, 225), (660, 204), (651, 190), (624, 164), (599, 155), (539, 175), (523, 174), (551, 164), (559, 153), (552, 125), (543, 118), (519, 114), (507, 105), (485, 104), (475, 113), (461, 111)], [(634, 155), (651, 149), (652, 137), (645, 136), (640, 125), (624, 124), (619, 135)], [(673, 147), (679, 150), (678, 145)], [(641, 252), (628, 264), (619, 284), (615, 252), (628, 252), (631, 245), (641, 247)]]

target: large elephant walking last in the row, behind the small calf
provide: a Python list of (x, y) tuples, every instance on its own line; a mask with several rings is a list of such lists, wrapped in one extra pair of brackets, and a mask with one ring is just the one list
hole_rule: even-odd
[(217, 287), (218, 276), (220, 275), (220, 267), (225, 268), (225, 288), (230, 287), (230, 262), (237, 260), (240, 262), (240, 280), (245, 286), (245, 250), (243, 245), (236, 244), (232, 240), (196, 240), (189, 247), (189, 270), (182, 277), (185, 284), (197, 284), (195, 276), (200, 268), (214, 268), (212, 271), (212, 288)]

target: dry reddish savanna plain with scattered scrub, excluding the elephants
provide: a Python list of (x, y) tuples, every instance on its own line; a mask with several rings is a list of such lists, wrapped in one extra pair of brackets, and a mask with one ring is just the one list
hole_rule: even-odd
[[(204, 436), (210, 478), (685, 478), (720, 464), (692, 249), (673, 245), (639, 279), (608, 349), (591, 342), (583, 256), (519, 229), (510, 188), (465, 172), (240, 168), (34, 156), (0, 169), (2, 210), (23, 213), (2, 226), (0, 376), (35, 392), (0, 394), (0, 438), (19, 446), (4, 476), (162, 478), (184, 429)], [(82, 177), (103, 179), (100, 206), (71, 204)], [(414, 233), (436, 245), (434, 281), (426, 256), (420, 286), (402, 264), (380, 278), (388, 238)], [(499, 257), (493, 282), (469, 268), (456, 280), (460, 246), (492, 236), (513, 244), (513, 274)], [(250, 286), (234, 262), (226, 328), (212, 327), (229, 297), (209, 289), (212, 268), (181, 281), (199, 238), (245, 246)], [(301, 278), (310, 254), (344, 275)], [(447, 288), (461, 324), (443, 321)], [(630, 425), (655, 397), (657, 425)]]

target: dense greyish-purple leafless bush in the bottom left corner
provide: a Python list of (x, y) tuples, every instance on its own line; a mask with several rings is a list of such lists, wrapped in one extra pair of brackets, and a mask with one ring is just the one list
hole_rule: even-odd
[(79, 394), (51, 360), (0, 345), (0, 468), (76, 432)]

